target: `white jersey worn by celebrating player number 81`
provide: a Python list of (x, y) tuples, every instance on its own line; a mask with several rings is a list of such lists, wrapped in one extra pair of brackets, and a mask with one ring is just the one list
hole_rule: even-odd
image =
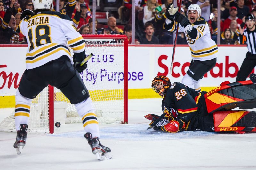
[[(174, 32), (177, 28), (177, 22), (172, 22), (171, 29), (168, 31)], [(166, 24), (166, 23), (165, 23)], [(215, 41), (211, 39), (209, 26), (203, 17), (200, 17), (196, 22), (192, 24), (197, 30), (196, 39), (192, 39), (185, 32), (185, 28), (179, 24), (178, 32), (184, 32), (186, 40), (190, 47), (191, 57), (193, 60), (206, 61), (217, 57), (218, 46)]]

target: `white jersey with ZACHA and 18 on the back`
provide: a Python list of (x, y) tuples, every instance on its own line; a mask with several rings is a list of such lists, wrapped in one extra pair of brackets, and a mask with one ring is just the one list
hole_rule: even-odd
[(85, 50), (83, 37), (76, 31), (72, 20), (59, 12), (44, 11), (20, 21), (20, 32), (26, 36), (27, 69), (42, 66), (66, 55), (73, 64), (68, 46), (74, 53)]

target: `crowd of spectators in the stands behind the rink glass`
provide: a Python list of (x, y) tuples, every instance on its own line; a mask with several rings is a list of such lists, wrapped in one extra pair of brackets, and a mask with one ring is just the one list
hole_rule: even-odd
[[(92, 34), (92, 0), (60, 0), (59, 9), (73, 20), (81, 34)], [(56, 2), (53, 0), (56, 11)], [(175, 34), (164, 29), (166, 7), (173, 0), (135, 0), (135, 44), (173, 44)], [(221, 44), (239, 44), (239, 28), (245, 16), (256, 16), (255, 0), (221, 0), (221, 22), (217, 22), (217, 0), (183, 0), (180, 13), (186, 15), (190, 4), (198, 4), (207, 21), (211, 37), (217, 42), (220, 24)], [(132, 42), (132, 0), (100, 0), (96, 4), (96, 34), (125, 34)], [(0, 44), (25, 44), (19, 32), (21, 12), (34, 10), (32, 0), (0, 0)], [(211, 13), (213, 15), (211, 15)], [(211, 18), (210, 18), (211, 15)], [(187, 44), (179, 33), (177, 44)]]

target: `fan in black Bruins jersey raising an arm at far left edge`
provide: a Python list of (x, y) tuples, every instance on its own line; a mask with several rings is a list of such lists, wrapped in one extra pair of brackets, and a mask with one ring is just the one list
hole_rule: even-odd
[[(15, 44), (19, 42), (20, 36), (16, 29), (16, 20), (12, 15), (13, 5), (16, 0), (11, 0), (9, 8), (6, 10), (0, 27), (0, 44)], [(9, 24), (8, 24), (9, 23)]]

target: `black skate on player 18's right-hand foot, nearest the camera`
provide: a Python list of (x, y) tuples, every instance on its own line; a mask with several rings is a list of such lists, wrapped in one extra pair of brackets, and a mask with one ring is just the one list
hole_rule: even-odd
[(111, 159), (111, 150), (101, 145), (98, 137), (92, 138), (92, 134), (87, 132), (84, 134), (84, 138), (88, 140), (88, 144), (92, 148), (92, 153), (95, 154), (99, 160)]

